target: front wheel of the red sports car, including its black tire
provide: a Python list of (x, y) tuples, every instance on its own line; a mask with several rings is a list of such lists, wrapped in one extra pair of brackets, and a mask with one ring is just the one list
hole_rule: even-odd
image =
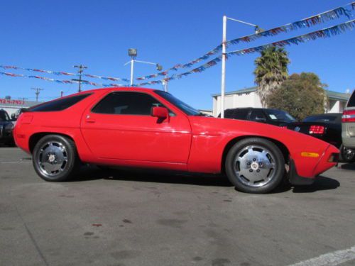
[(285, 176), (283, 153), (264, 138), (245, 138), (234, 144), (225, 166), (229, 181), (246, 193), (271, 192)]

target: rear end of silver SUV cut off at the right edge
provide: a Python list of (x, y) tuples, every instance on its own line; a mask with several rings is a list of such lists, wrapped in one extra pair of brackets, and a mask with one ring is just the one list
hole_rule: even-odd
[(344, 157), (355, 160), (355, 91), (351, 94), (342, 116)]

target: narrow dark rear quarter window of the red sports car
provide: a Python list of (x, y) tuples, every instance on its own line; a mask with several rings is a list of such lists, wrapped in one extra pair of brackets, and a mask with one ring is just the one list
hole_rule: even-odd
[(77, 104), (82, 99), (85, 99), (87, 96), (91, 94), (80, 94), (76, 96), (67, 97), (64, 99), (58, 99), (54, 101), (50, 101), (45, 104), (40, 104), (38, 106), (33, 106), (28, 109), (30, 112), (49, 112), (49, 111), (62, 111), (64, 109)]

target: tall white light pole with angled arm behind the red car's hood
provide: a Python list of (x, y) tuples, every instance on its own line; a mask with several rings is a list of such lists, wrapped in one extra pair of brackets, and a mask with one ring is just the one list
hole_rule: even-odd
[(224, 93), (226, 91), (226, 20), (236, 21), (239, 23), (243, 23), (249, 26), (253, 26), (255, 29), (255, 33), (263, 32), (263, 29), (258, 25), (248, 23), (245, 21), (239, 21), (235, 18), (227, 18), (227, 16), (223, 16), (223, 32), (222, 32), (222, 80), (221, 80), (221, 118), (224, 118)]

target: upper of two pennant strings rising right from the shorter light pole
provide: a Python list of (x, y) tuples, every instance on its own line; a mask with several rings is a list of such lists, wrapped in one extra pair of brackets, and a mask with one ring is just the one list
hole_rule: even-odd
[[(251, 35), (246, 35), (244, 37), (236, 38), (234, 40), (229, 40), (226, 42), (226, 45), (235, 45), (237, 43), (250, 43), (253, 40), (256, 40), (261, 37), (268, 37), (268, 36), (274, 36), (278, 35), (279, 33), (288, 33), (289, 31), (295, 31), (300, 28), (310, 28), (311, 26), (315, 26), (320, 23), (324, 23), (326, 21), (334, 20), (337, 18), (340, 18), (341, 16), (346, 16), (347, 18), (352, 17), (352, 10), (347, 9), (349, 6), (351, 6), (351, 9), (355, 9), (355, 1), (351, 2), (350, 4), (346, 4), (345, 6), (338, 7), (337, 9), (332, 9), (323, 13), (319, 13), (315, 16), (310, 16), (308, 18), (304, 18), (300, 21), (295, 21), (293, 23), (288, 23), (283, 26), (277, 27), (277, 28), (271, 28), (267, 31), (263, 31), (261, 33), (255, 33)], [(159, 72), (156, 74), (149, 74), (144, 77), (137, 77), (137, 80), (144, 80), (144, 79), (151, 79), (154, 77), (158, 76), (165, 76), (170, 72), (171, 70), (178, 70), (180, 68), (188, 68), (192, 67), (192, 65), (197, 64), (198, 62), (201, 62), (202, 60), (207, 60), (209, 57), (212, 55), (217, 54), (217, 52), (220, 52), (222, 50), (222, 44), (218, 45), (216, 48), (210, 50), (206, 54), (202, 55), (201, 57), (198, 57), (195, 60), (192, 60), (184, 65), (178, 64), (173, 67), (170, 67), (167, 70), (164, 70), (163, 72)]]

